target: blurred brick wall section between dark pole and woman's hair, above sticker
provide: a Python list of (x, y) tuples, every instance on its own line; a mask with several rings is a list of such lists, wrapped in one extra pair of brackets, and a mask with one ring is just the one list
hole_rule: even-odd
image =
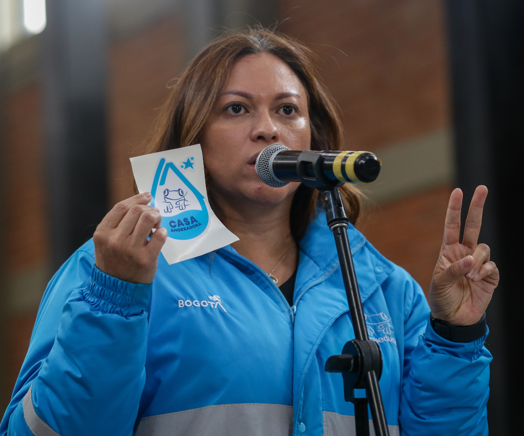
[(182, 24), (168, 17), (110, 50), (108, 95), (110, 204), (133, 195), (129, 158), (140, 146), (165, 102), (168, 84), (185, 66)]

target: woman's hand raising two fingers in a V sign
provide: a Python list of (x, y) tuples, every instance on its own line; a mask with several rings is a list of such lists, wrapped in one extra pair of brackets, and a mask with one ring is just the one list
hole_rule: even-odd
[(454, 326), (478, 322), (498, 285), (498, 269), (489, 260), (489, 247), (477, 245), (487, 193), (485, 186), (475, 189), (462, 244), (459, 243), (460, 189), (452, 192), (447, 206), (444, 240), (429, 289), (429, 304), (433, 318)]

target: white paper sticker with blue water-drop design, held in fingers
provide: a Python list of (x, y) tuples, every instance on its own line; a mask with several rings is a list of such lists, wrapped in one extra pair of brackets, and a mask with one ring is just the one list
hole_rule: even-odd
[(200, 144), (131, 158), (138, 192), (151, 193), (168, 231), (162, 254), (169, 264), (238, 241), (211, 210)]

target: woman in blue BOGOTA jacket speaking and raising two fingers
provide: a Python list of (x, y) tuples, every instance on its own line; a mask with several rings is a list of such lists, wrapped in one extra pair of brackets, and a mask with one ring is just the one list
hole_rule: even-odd
[[(168, 265), (150, 195), (115, 205), (49, 283), (0, 433), (352, 434), (342, 378), (323, 371), (354, 334), (318, 194), (266, 186), (254, 169), (272, 143), (340, 148), (335, 107), (312, 53), (286, 36), (253, 30), (205, 48), (149, 152), (201, 142), (211, 204), (239, 241)], [(487, 434), (483, 314), (498, 271), (477, 245), (486, 195), (477, 188), (459, 244), (452, 193), (430, 288), (435, 326), (465, 342), (439, 336), (420, 286), (348, 229), (390, 434)], [(357, 192), (344, 197), (354, 222)]]

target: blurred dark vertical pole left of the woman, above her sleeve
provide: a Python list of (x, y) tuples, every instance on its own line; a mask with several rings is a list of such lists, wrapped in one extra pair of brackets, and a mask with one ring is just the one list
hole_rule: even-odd
[(42, 85), (51, 266), (107, 211), (104, 0), (47, 0)]

